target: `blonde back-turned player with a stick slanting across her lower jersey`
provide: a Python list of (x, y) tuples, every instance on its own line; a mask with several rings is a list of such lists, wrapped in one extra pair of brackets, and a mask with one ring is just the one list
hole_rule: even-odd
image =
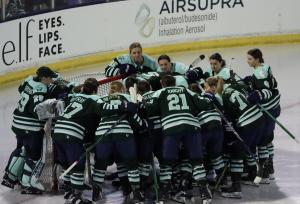
[[(111, 105), (119, 105), (131, 101), (130, 96), (125, 94), (124, 85), (119, 81), (111, 83), (109, 95), (103, 97), (103, 100)], [(102, 117), (95, 133), (96, 138), (102, 137), (120, 117), (122, 117), (120, 114), (111, 114)], [(93, 174), (94, 201), (102, 198), (101, 186), (104, 182), (109, 159), (117, 155), (117, 157), (121, 158), (122, 164), (128, 170), (128, 179), (132, 188), (132, 194), (129, 195), (129, 199), (132, 200), (133, 203), (143, 202), (144, 197), (140, 190), (140, 177), (133, 129), (138, 130), (144, 128), (147, 128), (147, 124), (140, 119), (137, 113), (126, 115), (126, 117), (119, 121), (109, 134), (103, 137), (97, 144), (95, 150), (96, 163)]]

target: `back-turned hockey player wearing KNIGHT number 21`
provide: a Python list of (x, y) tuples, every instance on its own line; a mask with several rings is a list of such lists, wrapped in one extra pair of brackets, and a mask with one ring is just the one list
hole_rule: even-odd
[(183, 87), (175, 87), (175, 78), (166, 75), (161, 79), (163, 89), (153, 94), (153, 99), (146, 104), (147, 110), (161, 116), (163, 127), (163, 161), (160, 169), (161, 200), (170, 197), (170, 181), (172, 165), (177, 158), (178, 145), (184, 145), (188, 159), (193, 164), (193, 179), (198, 186), (194, 195), (206, 201), (212, 199), (207, 187), (206, 174), (202, 159), (202, 141), (200, 125), (194, 114), (204, 107), (199, 104), (198, 97)]

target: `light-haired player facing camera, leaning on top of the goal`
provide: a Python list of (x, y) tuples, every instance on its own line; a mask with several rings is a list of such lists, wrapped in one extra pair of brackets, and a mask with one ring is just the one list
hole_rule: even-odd
[(136, 73), (157, 72), (157, 63), (150, 56), (143, 54), (142, 46), (134, 42), (129, 46), (129, 54), (114, 58), (105, 68), (107, 77), (125, 75), (130, 76)]

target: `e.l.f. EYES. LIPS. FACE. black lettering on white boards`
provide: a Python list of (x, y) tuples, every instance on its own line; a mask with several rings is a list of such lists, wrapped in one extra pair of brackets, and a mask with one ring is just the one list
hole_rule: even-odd
[(1, 60), (6, 66), (26, 63), (32, 59), (60, 55), (62, 44), (61, 16), (20, 20), (15, 24), (11, 40), (0, 42)]

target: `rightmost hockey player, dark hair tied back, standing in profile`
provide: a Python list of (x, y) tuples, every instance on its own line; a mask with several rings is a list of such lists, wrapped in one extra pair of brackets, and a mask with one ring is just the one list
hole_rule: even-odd
[[(252, 104), (260, 103), (275, 118), (278, 117), (280, 115), (280, 94), (271, 67), (264, 63), (263, 54), (257, 48), (248, 51), (247, 62), (254, 69), (252, 76), (247, 76), (244, 79), (252, 88), (252, 92), (248, 97), (249, 101)], [(274, 139), (275, 121), (266, 114), (265, 118), (264, 137), (258, 147), (261, 183), (269, 183), (269, 178), (274, 179), (274, 146), (272, 141)]]

